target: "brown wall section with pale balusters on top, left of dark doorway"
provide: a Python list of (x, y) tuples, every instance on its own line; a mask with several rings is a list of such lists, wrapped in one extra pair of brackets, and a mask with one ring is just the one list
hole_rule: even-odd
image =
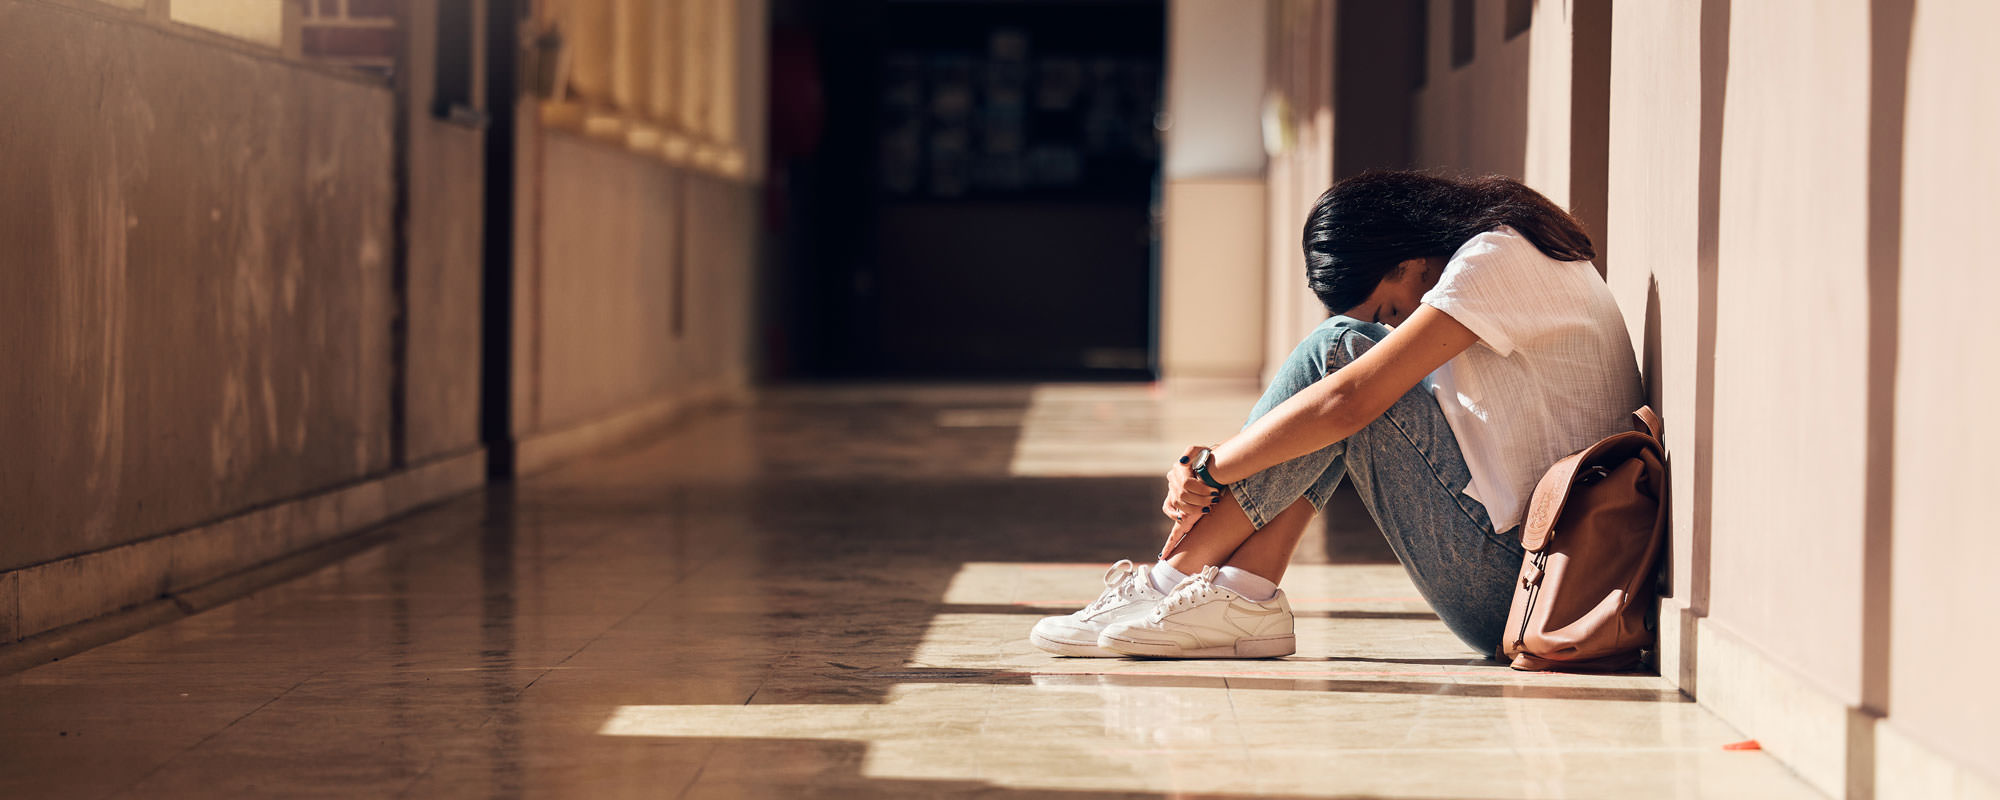
[[(516, 108), (516, 472), (750, 386), (764, 2), (538, 0), (566, 54)], [(644, 34), (640, 34), (644, 32)]]

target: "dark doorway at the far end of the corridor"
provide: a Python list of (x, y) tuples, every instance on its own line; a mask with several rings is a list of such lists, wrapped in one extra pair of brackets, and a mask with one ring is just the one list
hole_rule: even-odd
[(792, 82), (824, 98), (810, 152), (772, 154), (778, 376), (1154, 376), (1162, 2), (778, 2), (774, 22), (774, 146), (798, 150)]

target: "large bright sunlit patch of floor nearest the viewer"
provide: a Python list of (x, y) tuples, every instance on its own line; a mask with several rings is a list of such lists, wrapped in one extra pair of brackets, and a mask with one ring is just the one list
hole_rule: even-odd
[(858, 742), (866, 778), (1020, 790), (1810, 796), (1766, 760), (1724, 752), (1734, 730), (1692, 704), (1024, 678), (900, 684), (880, 704), (622, 706), (598, 734)]

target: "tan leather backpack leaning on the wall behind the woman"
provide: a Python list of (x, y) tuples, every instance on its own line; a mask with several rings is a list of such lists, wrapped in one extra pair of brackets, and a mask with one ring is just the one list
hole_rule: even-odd
[(1660, 416), (1550, 466), (1528, 500), (1500, 658), (1516, 670), (1612, 672), (1654, 642), (1654, 564), (1666, 540)]

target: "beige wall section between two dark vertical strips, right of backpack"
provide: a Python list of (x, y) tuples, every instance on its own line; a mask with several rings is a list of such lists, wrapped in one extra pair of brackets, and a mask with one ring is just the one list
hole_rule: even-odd
[[(1700, 692), (1838, 794), (1840, 712), (1862, 692), (1870, 64), (1854, 54), (1870, 52), (1868, 8), (1734, 4), (1728, 48)], [(1760, 672), (1754, 656), (1832, 704), (1802, 714), (1756, 680), (1708, 680), (1722, 652), (1746, 656), (1734, 678)]]

